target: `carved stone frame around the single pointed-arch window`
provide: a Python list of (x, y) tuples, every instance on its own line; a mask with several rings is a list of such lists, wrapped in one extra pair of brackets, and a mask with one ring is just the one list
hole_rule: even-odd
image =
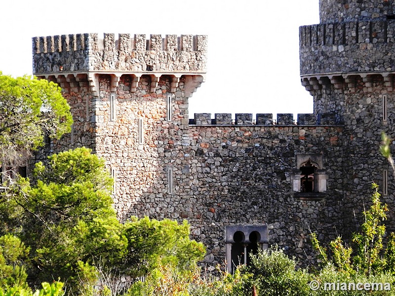
[[(301, 167), (311, 163), (316, 169), (314, 171), (314, 191), (301, 191)], [(322, 154), (296, 154), (296, 167), (291, 174), (292, 189), (294, 196), (298, 199), (317, 199), (320, 200), (326, 196), (326, 181), (328, 175), (323, 167)]]

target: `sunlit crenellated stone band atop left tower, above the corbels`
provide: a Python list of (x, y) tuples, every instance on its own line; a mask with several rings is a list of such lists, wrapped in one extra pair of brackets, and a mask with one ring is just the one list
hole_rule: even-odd
[(33, 73), (129, 71), (205, 73), (207, 36), (71, 34), (33, 37)]

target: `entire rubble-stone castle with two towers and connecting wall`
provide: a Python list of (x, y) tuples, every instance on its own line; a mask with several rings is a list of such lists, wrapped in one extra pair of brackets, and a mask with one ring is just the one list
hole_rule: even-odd
[[(77, 34), (33, 38), (33, 72), (58, 83), (72, 132), (48, 153), (88, 147), (115, 179), (121, 221), (188, 220), (204, 264), (248, 263), (277, 244), (313, 260), (310, 230), (328, 241), (360, 222), (371, 183), (394, 209), (380, 134), (395, 139), (393, 0), (320, 0), (300, 27), (302, 85), (314, 114), (209, 113), (189, 118), (204, 81), (207, 37)], [(390, 213), (387, 225), (395, 228)]]

